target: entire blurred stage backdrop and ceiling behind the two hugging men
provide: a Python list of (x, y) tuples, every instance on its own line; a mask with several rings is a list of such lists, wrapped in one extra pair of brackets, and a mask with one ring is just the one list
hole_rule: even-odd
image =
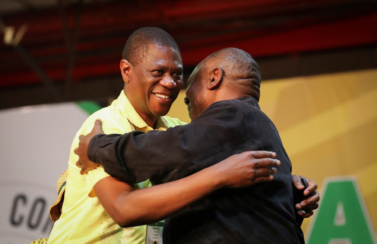
[[(118, 96), (123, 46), (144, 26), (176, 40), (184, 80), (214, 51), (249, 52), (293, 173), (319, 185), (307, 243), (376, 243), (377, 1), (1, 0), (2, 243), (48, 236), (73, 136)], [(190, 122), (183, 97), (168, 115)]]

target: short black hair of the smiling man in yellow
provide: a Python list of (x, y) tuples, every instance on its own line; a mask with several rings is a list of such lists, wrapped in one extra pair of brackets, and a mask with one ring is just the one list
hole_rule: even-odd
[(157, 27), (143, 27), (128, 38), (123, 49), (122, 59), (127, 60), (133, 66), (138, 65), (143, 61), (149, 44), (172, 47), (180, 55), (178, 45), (167, 32)]

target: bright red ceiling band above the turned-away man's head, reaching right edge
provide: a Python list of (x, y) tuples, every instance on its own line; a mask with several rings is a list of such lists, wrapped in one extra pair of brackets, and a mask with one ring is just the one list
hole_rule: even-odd
[[(243, 49), (253, 57), (265, 57), (375, 45), (377, 44), (375, 30), (377, 30), (377, 13), (371, 13), (349, 20), (269, 33), (257, 38), (248, 37), (220, 43), (214, 38), (211, 45), (185, 49), (181, 53), (184, 65), (194, 66), (211, 53), (226, 47)], [(218, 38), (221, 39), (221, 37)]]

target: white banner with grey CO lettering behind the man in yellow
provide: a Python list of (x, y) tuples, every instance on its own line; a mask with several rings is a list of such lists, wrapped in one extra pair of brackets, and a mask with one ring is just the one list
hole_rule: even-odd
[(73, 137), (87, 116), (75, 103), (0, 111), (1, 244), (48, 237), (56, 181), (67, 168)]

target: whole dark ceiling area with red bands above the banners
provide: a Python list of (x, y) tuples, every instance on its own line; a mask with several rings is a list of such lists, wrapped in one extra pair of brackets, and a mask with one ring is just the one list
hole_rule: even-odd
[(0, 109), (107, 105), (123, 46), (145, 26), (176, 40), (185, 80), (226, 47), (249, 52), (263, 80), (377, 67), (375, 0), (0, 0)]

